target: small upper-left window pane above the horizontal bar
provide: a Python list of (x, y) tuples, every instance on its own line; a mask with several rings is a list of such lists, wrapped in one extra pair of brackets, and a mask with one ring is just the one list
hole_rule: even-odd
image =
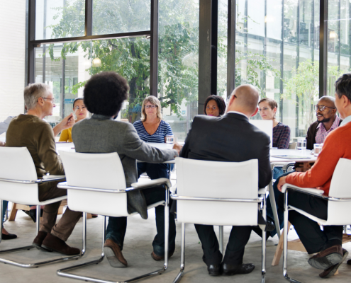
[(84, 23), (85, 0), (35, 1), (35, 40), (84, 36)]

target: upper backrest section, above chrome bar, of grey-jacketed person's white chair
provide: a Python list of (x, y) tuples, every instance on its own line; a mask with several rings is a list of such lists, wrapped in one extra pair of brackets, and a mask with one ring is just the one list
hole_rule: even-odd
[(106, 190), (126, 190), (121, 159), (110, 154), (80, 154), (60, 151), (67, 185)]

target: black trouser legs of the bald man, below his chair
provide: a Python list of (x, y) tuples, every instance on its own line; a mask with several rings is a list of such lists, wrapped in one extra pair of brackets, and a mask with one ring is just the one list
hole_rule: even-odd
[[(219, 251), (219, 243), (213, 226), (195, 224), (195, 229), (204, 250), (202, 260), (206, 265), (221, 264), (223, 255)], [(251, 229), (251, 226), (233, 226), (225, 249), (223, 263), (230, 265), (241, 265), (243, 263), (245, 246), (249, 241)]]

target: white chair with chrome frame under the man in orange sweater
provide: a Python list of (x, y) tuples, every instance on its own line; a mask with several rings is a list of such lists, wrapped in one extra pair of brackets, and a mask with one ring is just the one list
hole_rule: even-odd
[[(333, 178), (330, 183), (329, 196), (323, 195), (323, 190), (318, 190), (316, 188), (303, 188), (296, 187), (294, 185), (285, 184), (282, 187), (282, 192), (284, 192), (284, 248), (283, 248), (283, 275), (289, 282), (300, 283), (296, 279), (292, 279), (288, 276), (287, 270), (287, 256), (288, 256), (288, 241), (287, 241), (287, 231), (288, 231), (288, 216), (289, 210), (295, 210), (303, 214), (304, 216), (318, 222), (324, 226), (330, 225), (348, 225), (351, 223), (350, 216), (350, 202), (351, 202), (351, 184), (348, 179), (351, 172), (351, 160), (346, 158), (340, 158), (335, 171), (333, 173)], [(328, 219), (319, 219), (316, 216), (304, 212), (302, 209), (297, 209), (291, 205), (288, 205), (289, 190), (295, 190), (297, 192), (302, 192), (307, 195), (313, 195), (315, 197), (321, 197), (324, 200), (328, 200)]]

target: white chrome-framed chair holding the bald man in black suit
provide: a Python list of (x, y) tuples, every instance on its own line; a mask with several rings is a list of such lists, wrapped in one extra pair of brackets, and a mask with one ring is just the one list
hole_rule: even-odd
[[(265, 195), (258, 190), (257, 159), (244, 162), (199, 161), (176, 158), (177, 221), (182, 222), (179, 282), (184, 272), (185, 224), (257, 226), (257, 204), (266, 219)], [(174, 191), (175, 186), (171, 188)], [(258, 195), (261, 195), (258, 197)], [(211, 208), (211, 209), (210, 209)], [(220, 235), (220, 241), (223, 233)], [(223, 246), (223, 245), (222, 245)], [(262, 231), (262, 282), (265, 280), (266, 232)]]

